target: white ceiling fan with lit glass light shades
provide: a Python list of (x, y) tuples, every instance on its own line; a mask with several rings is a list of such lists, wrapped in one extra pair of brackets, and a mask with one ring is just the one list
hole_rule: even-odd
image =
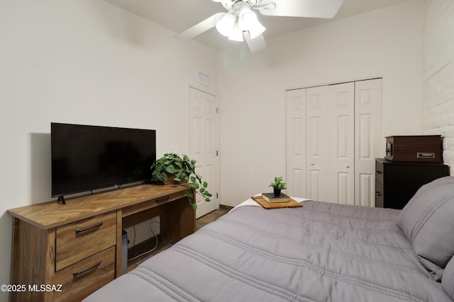
[(221, 2), (227, 12), (215, 13), (175, 37), (189, 40), (216, 26), (229, 40), (245, 41), (251, 52), (266, 47), (265, 27), (255, 11), (265, 16), (333, 18), (343, 0), (212, 0)]

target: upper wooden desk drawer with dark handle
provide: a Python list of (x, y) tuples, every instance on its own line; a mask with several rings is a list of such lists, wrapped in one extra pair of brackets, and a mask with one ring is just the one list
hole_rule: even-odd
[(57, 227), (55, 270), (116, 244), (116, 211)]

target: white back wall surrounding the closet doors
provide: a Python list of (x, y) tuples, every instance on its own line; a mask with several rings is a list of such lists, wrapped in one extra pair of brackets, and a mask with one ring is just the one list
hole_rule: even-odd
[(423, 1), (219, 54), (220, 203), (235, 206), (285, 175), (285, 89), (383, 77), (383, 137), (421, 134)]

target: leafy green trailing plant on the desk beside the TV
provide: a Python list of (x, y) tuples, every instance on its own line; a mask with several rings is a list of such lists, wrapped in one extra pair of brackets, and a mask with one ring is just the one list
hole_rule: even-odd
[(194, 192), (199, 192), (206, 202), (210, 202), (213, 196), (206, 190), (208, 182), (202, 181), (201, 175), (196, 173), (196, 161), (189, 159), (186, 155), (179, 156), (176, 153), (165, 153), (151, 165), (151, 179), (164, 184), (177, 183), (187, 189), (187, 197), (192, 209), (197, 209), (194, 203)]

